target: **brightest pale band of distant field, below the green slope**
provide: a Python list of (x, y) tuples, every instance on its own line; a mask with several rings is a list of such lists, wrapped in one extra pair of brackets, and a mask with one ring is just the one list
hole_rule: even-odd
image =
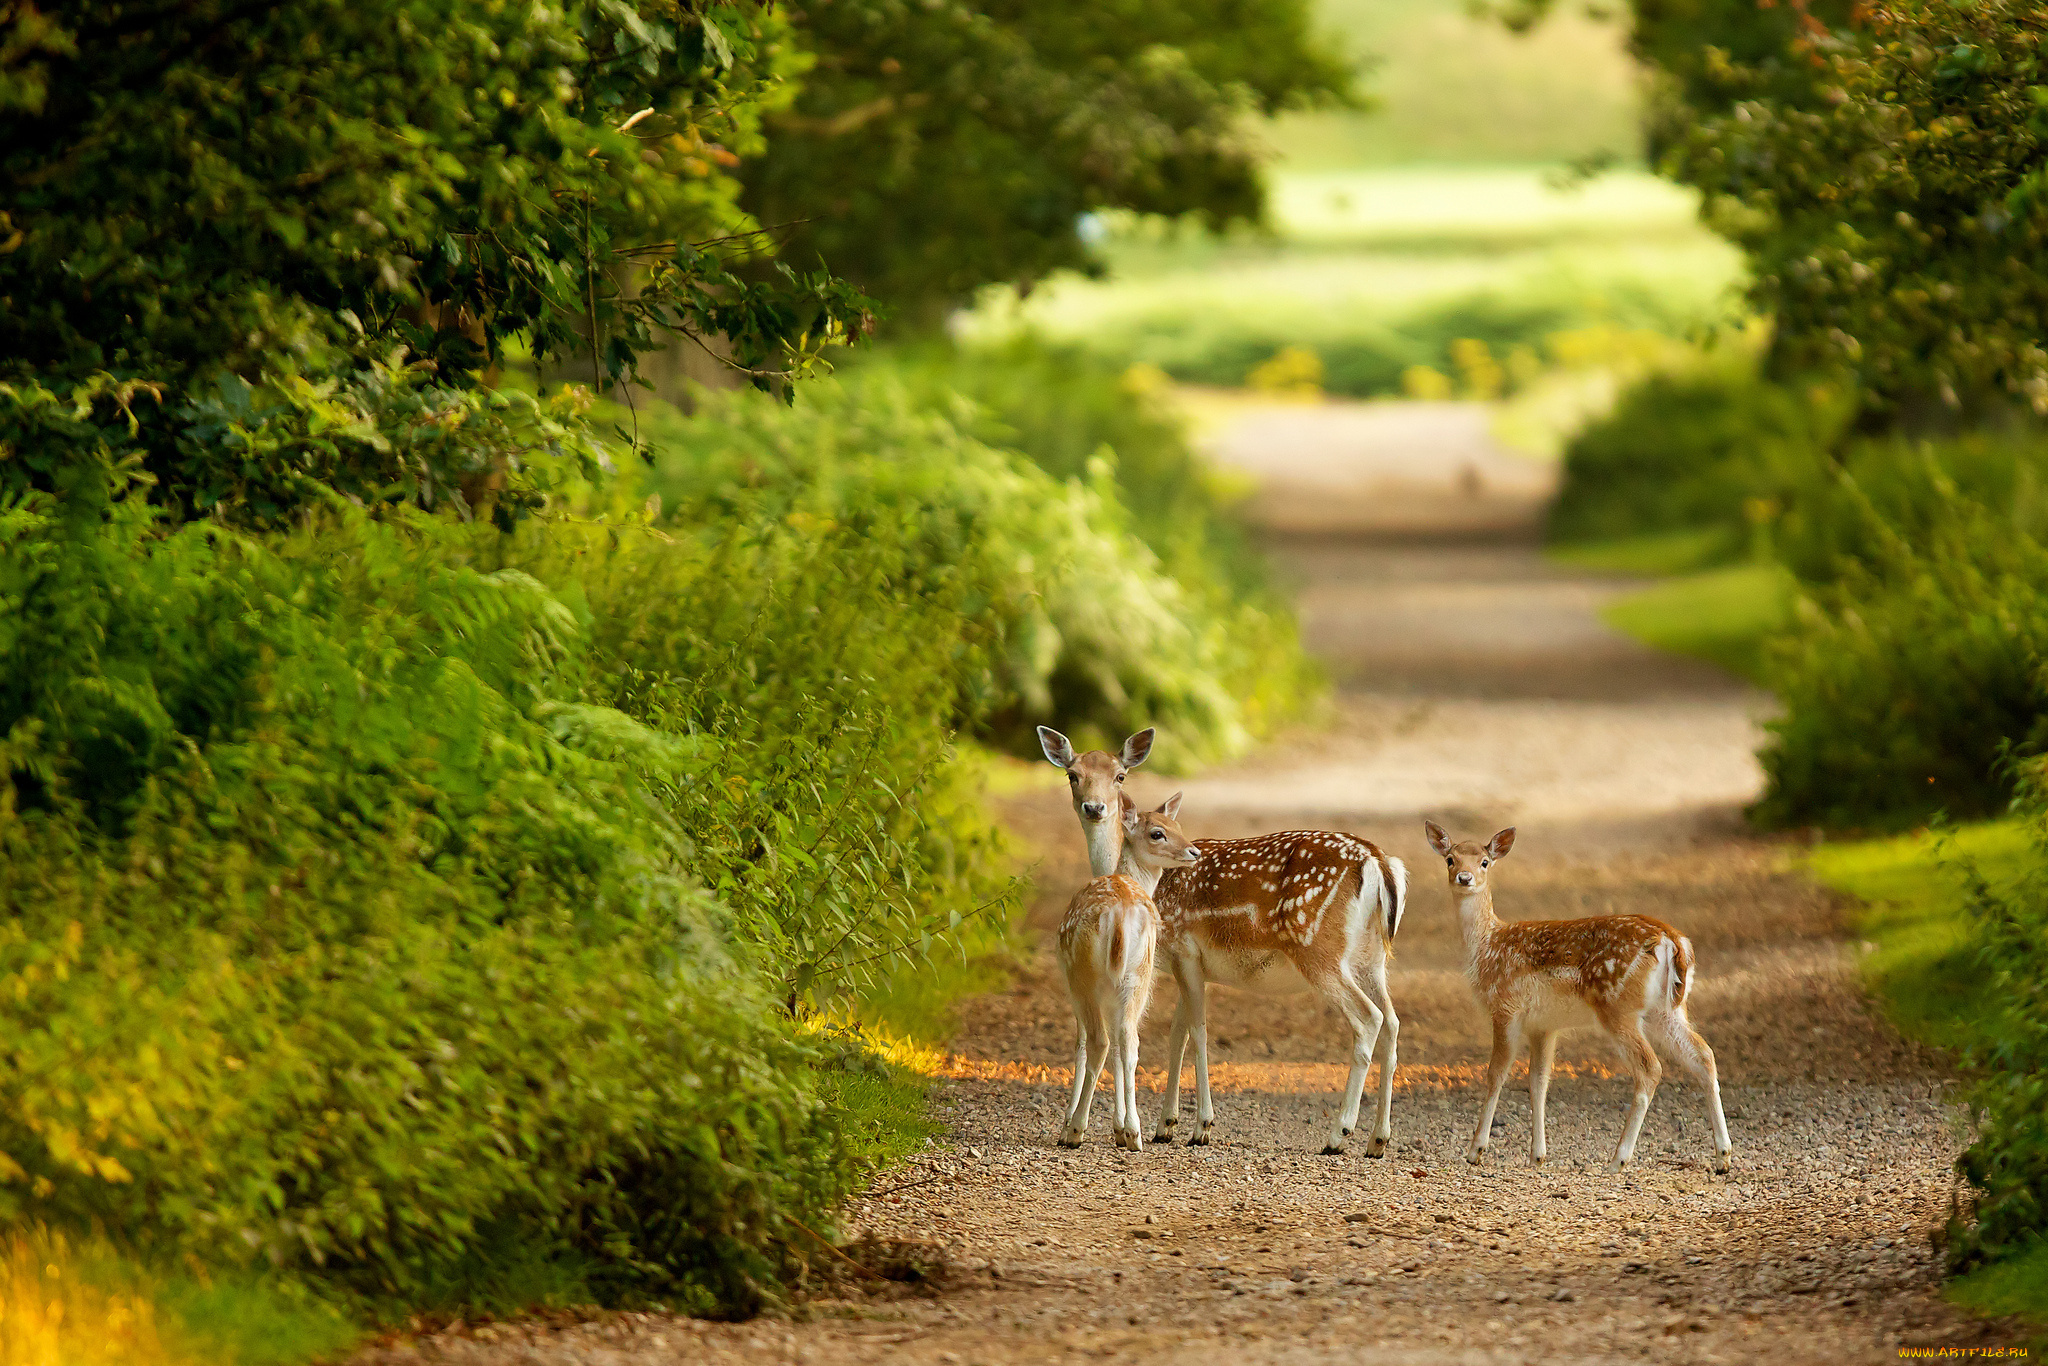
[(1573, 328), (1686, 336), (1737, 311), (1737, 254), (1642, 172), (1571, 193), (1530, 166), (1282, 168), (1272, 184), (1270, 233), (1118, 223), (1108, 279), (1059, 276), (1022, 303), (991, 291), (963, 332), (1036, 328), (1210, 385), (1307, 346), (1331, 391), (1372, 395), (1407, 367), (1448, 369), (1458, 338), (1505, 356)]

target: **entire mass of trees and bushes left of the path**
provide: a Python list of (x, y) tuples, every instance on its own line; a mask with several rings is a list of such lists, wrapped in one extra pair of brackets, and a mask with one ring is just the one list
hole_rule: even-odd
[(815, 1278), (1006, 952), (997, 754), (1319, 690), (1153, 379), (932, 324), (1087, 213), (1262, 221), (1327, 51), (0, 4), (0, 1214), (96, 1286), (16, 1268), (0, 1350)]

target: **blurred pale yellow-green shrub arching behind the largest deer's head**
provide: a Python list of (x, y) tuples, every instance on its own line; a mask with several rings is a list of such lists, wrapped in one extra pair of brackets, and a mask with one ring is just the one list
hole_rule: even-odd
[(741, 516), (897, 539), (899, 592), (956, 592), (987, 631), (956, 715), (985, 717), (1018, 752), (1034, 743), (1030, 723), (1063, 717), (1157, 725), (1186, 764), (1243, 748), (1298, 702), (1280, 610), (1169, 575), (1122, 510), (1114, 453), (1061, 481), (969, 434), (989, 422), (872, 369), (815, 385), (795, 410), (717, 395), (643, 432), (676, 524)]

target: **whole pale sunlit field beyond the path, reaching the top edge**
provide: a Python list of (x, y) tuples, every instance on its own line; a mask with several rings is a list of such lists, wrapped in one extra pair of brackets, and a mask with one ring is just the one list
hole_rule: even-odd
[[(1427, 369), (1489, 397), (1456, 360), (1473, 342), (1477, 373), (1513, 387), (1563, 332), (1686, 338), (1741, 313), (1739, 256), (1690, 193), (1636, 168), (1640, 90), (1618, 25), (1561, 6), (1513, 35), (1466, 0), (1323, 0), (1319, 14), (1368, 59), (1374, 106), (1257, 129), (1278, 154), (1266, 231), (1110, 219), (1108, 279), (1055, 276), (1022, 303), (991, 291), (961, 330), (1032, 328), (1219, 387), (1298, 348), (1329, 393), (1423, 393)], [(1556, 186), (1593, 156), (1622, 170)]]

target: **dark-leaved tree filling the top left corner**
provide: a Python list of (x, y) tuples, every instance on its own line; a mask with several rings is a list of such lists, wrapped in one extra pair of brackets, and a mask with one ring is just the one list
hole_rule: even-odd
[[(723, 264), (791, 61), (772, 8), (696, 0), (0, 2), (0, 487), (84, 440), (186, 514), (510, 504), (539, 418), (465, 389), (514, 338), (610, 383), (674, 328), (782, 383), (864, 317), (823, 272)], [(31, 385), (84, 385), (96, 436)], [(455, 467), (395, 453), (494, 420)]]

